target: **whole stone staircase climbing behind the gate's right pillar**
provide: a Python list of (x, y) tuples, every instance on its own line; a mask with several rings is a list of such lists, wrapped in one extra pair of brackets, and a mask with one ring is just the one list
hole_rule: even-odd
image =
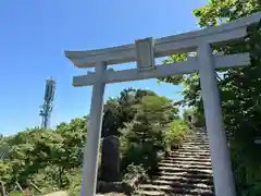
[(207, 133), (191, 131), (183, 146), (159, 164), (158, 174), (135, 195), (214, 196)]

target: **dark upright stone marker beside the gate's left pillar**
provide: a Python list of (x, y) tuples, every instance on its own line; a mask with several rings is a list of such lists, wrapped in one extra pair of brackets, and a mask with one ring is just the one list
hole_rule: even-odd
[(102, 142), (100, 180), (117, 182), (120, 177), (120, 142), (116, 136), (109, 136)]

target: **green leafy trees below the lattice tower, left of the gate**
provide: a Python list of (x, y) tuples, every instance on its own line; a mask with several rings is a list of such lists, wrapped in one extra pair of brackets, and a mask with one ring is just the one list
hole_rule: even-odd
[(26, 186), (28, 180), (36, 179), (45, 182), (41, 185), (67, 186), (71, 170), (83, 163), (87, 120), (88, 117), (74, 119), (59, 124), (54, 131), (35, 127), (8, 138), (8, 164), (0, 164), (0, 171), (11, 168), (9, 177), (5, 177), (9, 187), (15, 182)]

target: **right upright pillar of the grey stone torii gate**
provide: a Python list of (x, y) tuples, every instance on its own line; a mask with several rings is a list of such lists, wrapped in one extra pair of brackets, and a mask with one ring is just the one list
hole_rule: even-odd
[(198, 47), (199, 74), (206, 126), (209, 137), (215, 195), (236, 196), (231, 154), (224, 130), (220, 93), (214, 71), (212, 49), (208, 44)]

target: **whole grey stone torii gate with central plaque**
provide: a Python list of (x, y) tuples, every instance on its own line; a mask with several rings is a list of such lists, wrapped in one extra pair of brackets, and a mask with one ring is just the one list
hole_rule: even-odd
[[(73, 85), (94, 86), (80, 196), (96, 194), (99, 140), (101, 136), (103, 94), (105, 84), (165, 77), (199, 71), (204, 106), (210, 155), (216, 196), (235, 196), (235, 185), (222, 118), (221, 100), (214, 69), (250, 64), (249, 53), (213, 56), (212, 46), (240, 41), (247, 26), (260, 22), (261, 12), (236, 22), (159, 39), (146, 38), (135, 44), (89, 51), (65, 51), (79, 69), (95, 66), (95, 72), (74, 76)], [(156, 65), (154, 58), (197, 51), (197, 57), (169, 65)], [(137, 61), (137, 69), (107, 70), (107, 65)]]

